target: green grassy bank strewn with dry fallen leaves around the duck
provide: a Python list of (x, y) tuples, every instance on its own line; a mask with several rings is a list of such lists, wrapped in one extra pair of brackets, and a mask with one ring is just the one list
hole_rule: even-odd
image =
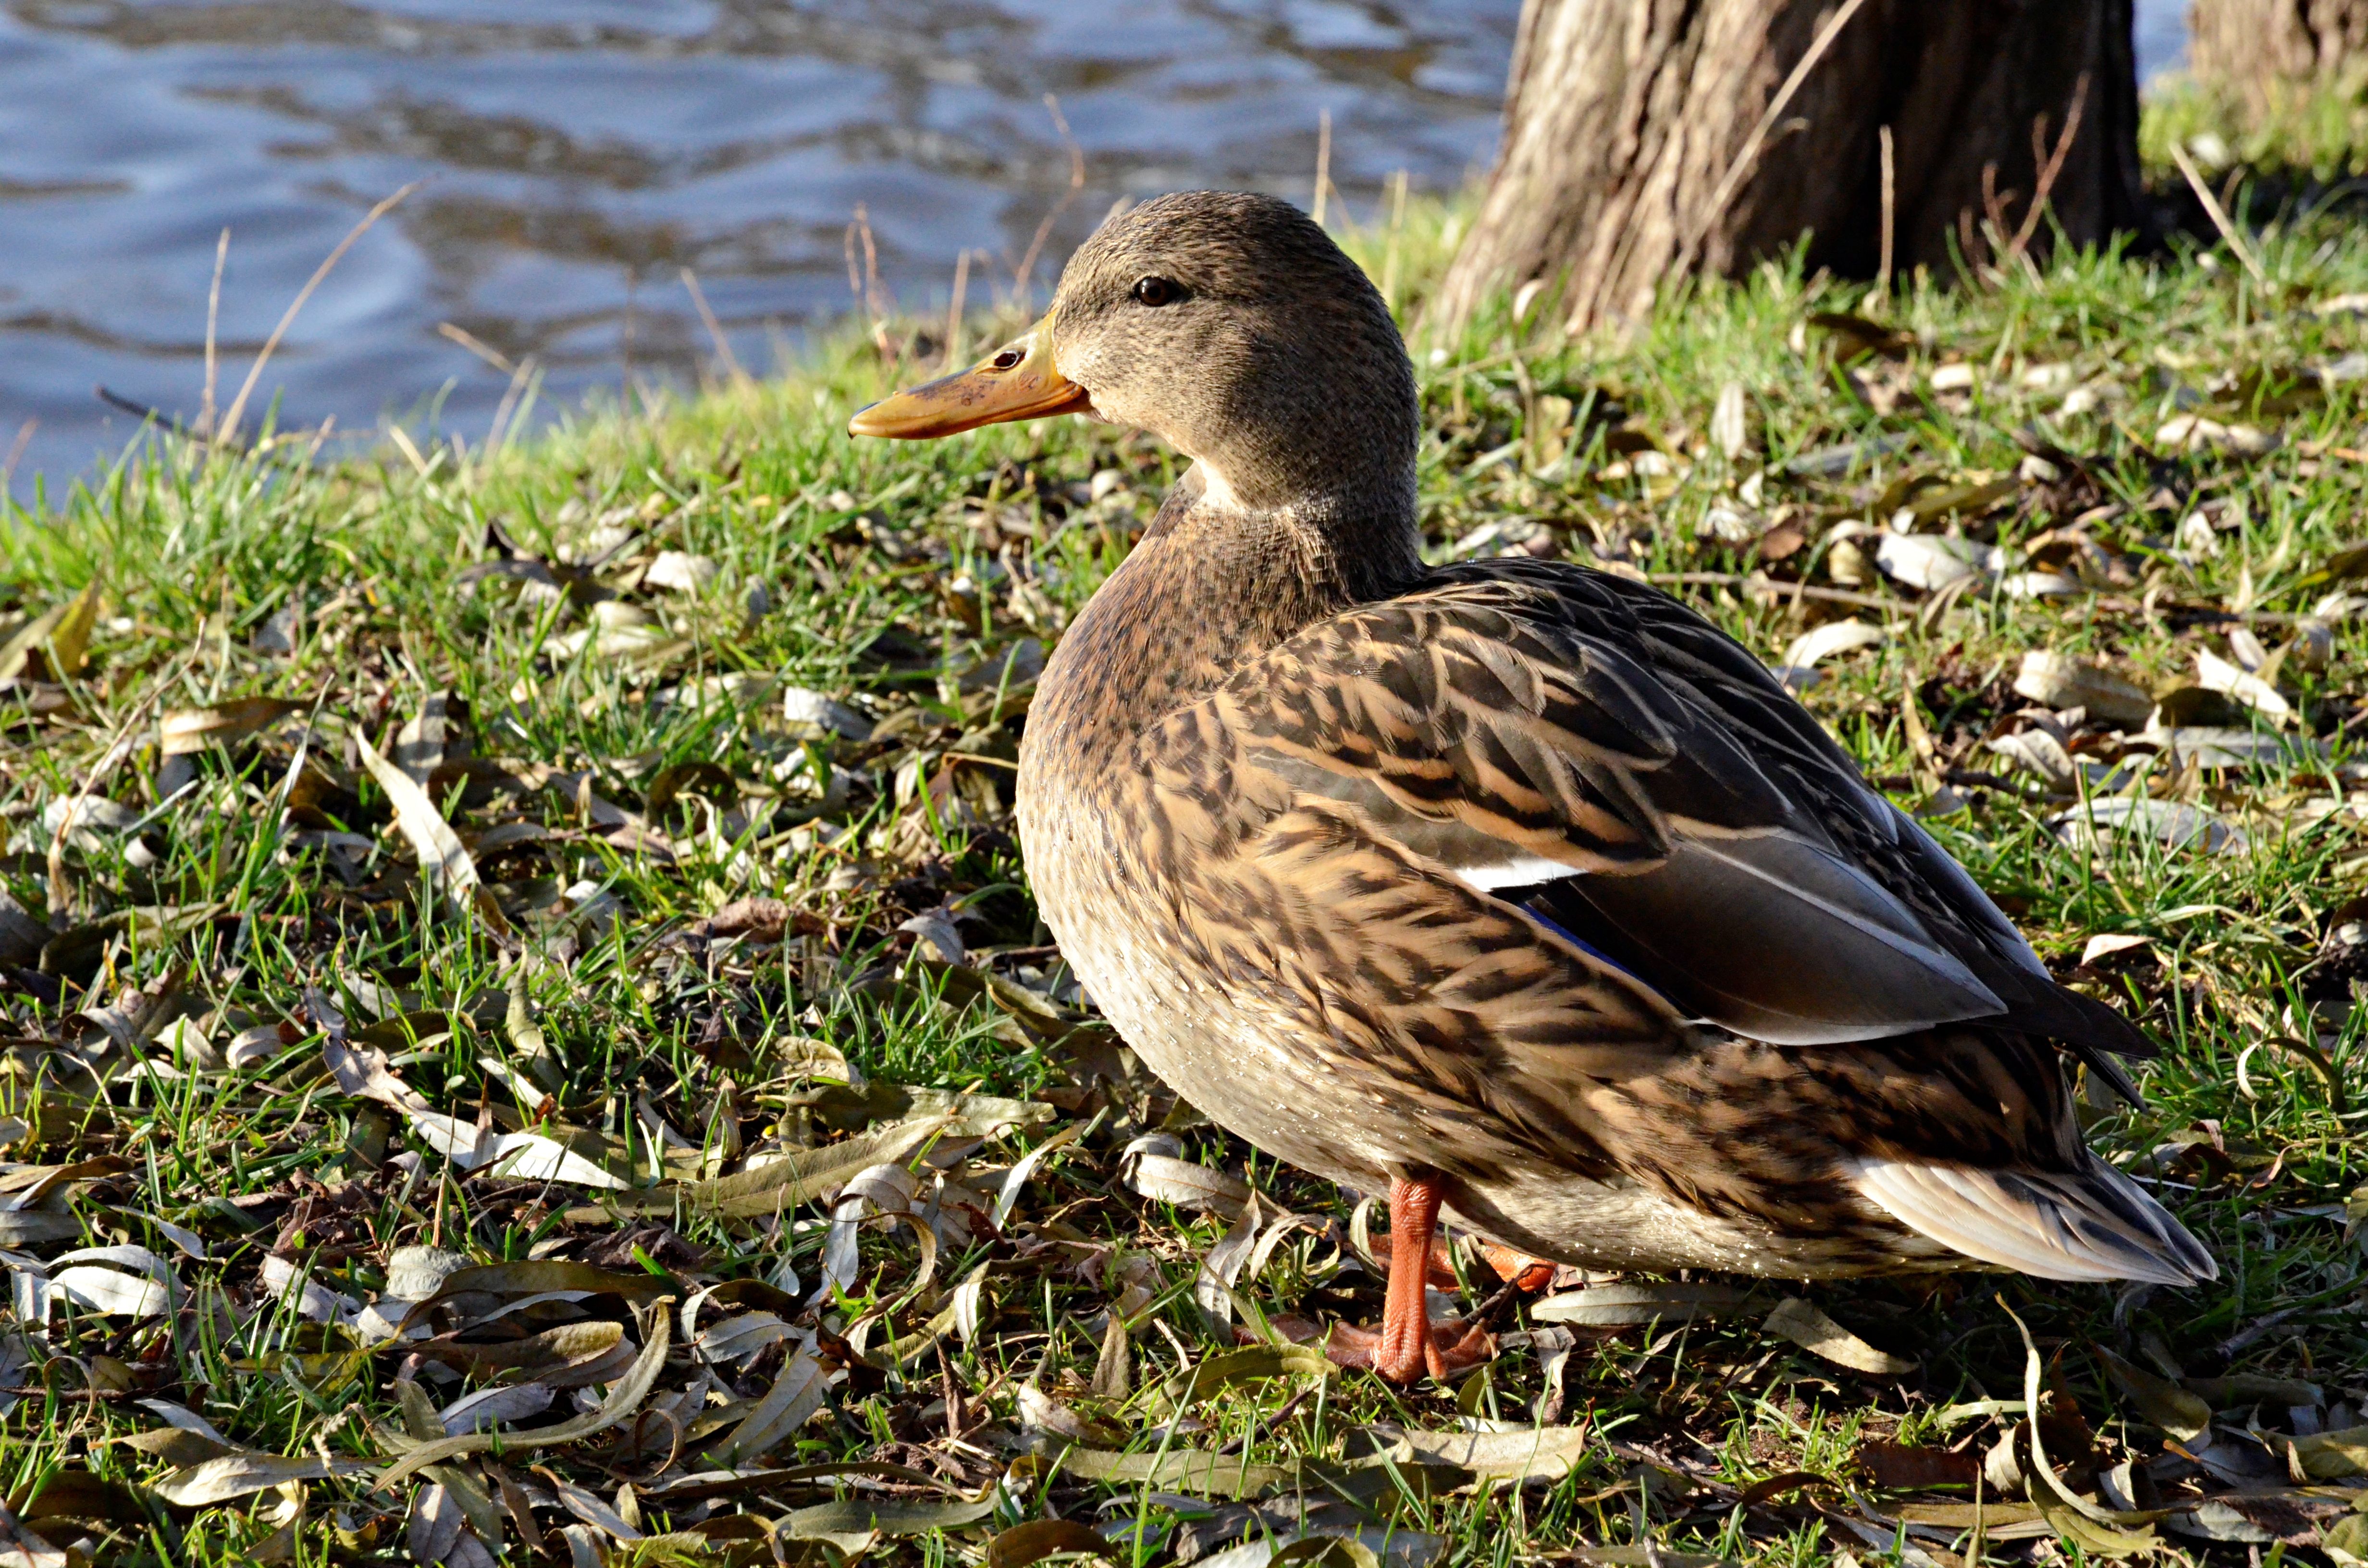
[[(1418, 208), (1395, 242), (1350, 239), (1397, 284), (1395, 303), (1418, 310), (1452, 249), (1447, 225)], [(1833, 618), (1885, 632), (1826, 658), (1809, 706), (1928, 815), (2065, 978), (2162, 1042), (2141, 1068), (2150, 1104), (2098, 1108), (2091, 1137), (2162, 1182), (2219, 1253), (2219, 1286), (2115, 1296), (1956, 1277), (1802, 1291), (1861, 1341), (1845, 1355), (1873, 1345), (1913, 1362), (1883, 1376), (1767, 1331), (1783, 1296), (1767, 1291), (1691, 1324), (1537, 1326), (1461, 1388), (1390, 1390), (1269, 1362), (1283, 1376), (1198, 1388), (1170, 1421), (1153, 1390), (1231, 1338), (1193, 1293), (1229, 1220), (1179, 1206), (1189, 1189), (1172, 1172), (1146, 1182), (1125, 1156), (1132, 1139), (1167, 1130), (1184, 1161), (1253, 1182), (1267, 1217), (1276, 1203), (1307, 1217), (1236, 1284), (1236, 1322), (1378, 1315), (1340, 1194), (1201, 1123), (1075, 1011), (1011, 836), (1032, 666), (1006, 661), (1030, 637), (1058, 637), (1177, 462), (1080, 422), (855, 445), (841, 433), (848, 410), (933, 367), (848, 339), (755, 388), (585, 415), (495, 452), (414, 443), (417, 462), (391, 450), (332, 464), (303, 441), (213, 457), (168, 443), (7, 514), (0, 625), (95, 597), (88, 635), (69, 611), (0, 696), (0, 874), (24, 910), (0, 990), (12, 1035), (0, 1153), (19, 1163), (12, 1180), (64, 1168), (21, 1217), (0, 1213), (0, 1246), (21, 1293), (81, 1246), (149, 1248), (173, 1291), (163, 1315), (69, 1300), (45, 1334), (0, 1329), (19, 1352), (0, 1357), (12, 1390), (0, 1492), (52, 1544), (121, 1563), (398, 1561), (429, 1480), (459, 1499), (471, 1532), (507, 1540), (504, 1561), (528, 1554), (519, 1514), (538, 1535), (583, 1530), (585, 1551), (609, 1542), (597, 1509), (564, 1504), (566, 1483), (639, 1518), (646, 1537), (675, 1530), (611, 1542), (611, 1561), (774, 1561), (755, 1521), (779, 1523), (779, 1561), (838, 1561), (862, 1549), (848, 1532), (879, 1504), (969, 1523), (883, 1537), (876, 1561), (978, 1561), (997, 1540), (992, 1561), (1018, 1563), (1030, 1537), (1002, 1532), (1058, 1516), (1106, 1525), (1118, 1561), (1148, 1568), (1250, 1528), (1288, 1530), (1281, 1502), (1298, 1495), (1321, 1504), (1310, 1525), (1376, 1530), (1364, 1549), (1383, 1528), (1407, 1537), (1383, 1561), (1956, 1563), (1965, 1530), (1918, 1525), (1902, 1559), (1894, 1521), (1970, 1502), (1970, 1459), (2015, 1452), (2018, 1414), (1961, 1409), (2022, 1397), (2013, 1307), (2036, 1338), (2039, 1433), (2065, 1487), (2096, 1499), (2103, 1471), (2148, 1509), (2183, 1511), (2103, 1525), (2041, 1487), (2048, 1514), (2015, 1523), (2034, 1518), (2022, 1447), (2018, 1473), (1984, 1480), (1984, 1499), (2003, 1483), (2008, 1506), (1984, 1528), (1984, 1559), (2129, 1549), (2112, 1532), (2209, 1561), (2323, 1556), (2311, 1547), (2323, 1537), (2368, 1551), (2356, 1514), (2342, 1523), (2361, 1497), (2356, 1469), (2304, 1492), (2283, 1445), (2314, 1424), (2359, 1426), (2368, 1409), (2368, 1161), (2354, 1108), (2368, 1104), (2356, 1007), (2368, 947), (2347, 910), (2368, 883), (2368, 720), (2359, 618), (2328, 604), (2347, 583), (2368, 595), (2344, 576), (2368, 559), (2342, 554), (2368, 535), (2356, 516), (2368, 379), (2321, 374), (2361, 346), (2361, 317), (2309, 308), (2368, 291), (2368, 239), (2295, 223), (2259, 249), (2269, 298), (2226, 256), (2205, 265), (2186, 251), (2067, 256), (1892, 301), (1778, 265), (1691, 289), (1624, 341), (1558, 346), (1508, 306), (1459, 341), (1416, 341), (1435, 554), (1525, 547), (1646, 573), (1771, 661)], [(1942, 365), (1970, 367), (1951, 372), (1956, 391), (1932, 388)], [(1714, 422), (1722, 393), (1745, 415), (1733, 455), (1736, 431)], [(2164, 436), (2181, 415), (2278, 445), (2186, 452)], [(1790, 476), (1795, 460), (1847, 443), (1864, 445), (1833, 471)], [(1989, 483), (2022, 471), (2027, 448), (2053, 467)], [(1842, 523), (1880, 528), (1904, 507), (1923, 507), (1925, 533), (2036, 550), (2039, 566), (2089, 580), (2018, 599), (1996, 583), (1930, 595), (1854, 571), (1842, 545), (1868, 557), (1875, 540)], [(2183, 528), (2193, 514), (2209, 552), (2205, 526)], [(521, 564), (471, 571), (495, 559), (495, 533)], [(661, 552), (701, 557), (713, 576), (651, 587)], [(2067, 789), (1989, 746), (2034, 727), (2010, 689), (2027, 651), (2098, 658), (2150, 692), (2193, 687), (2200, 654), (2235, 656), (2233, 632), (2276, 651), (2311, 613), (2328, 658), (2311, 668), (2306, 649), (2290, 651), (2271, 673), (2295, 708), (2271, 732), (2323, 756), (2290, 746), (2261, 765), (2181, 770), (2131, 744), (2136, 722), (2119, 739), (2089, 722), (2070, 732), (2072, 751), (2117, 777)], [(869, 725), (869, 739), (791, 722), (789, 687), (850, 703), (862, 722), (845, 727)], [(422, 751), (398, 751), (438, 696), (466, 703), (464, 718), (448, 703), (440, 746), (412, 737)], [(242, 711), (220, 703), (242, 699), (282, 699), (287, 713), (163, 756), (159, 722), (175, 734), (194, 713), (230, 722)], [(2190, 722), (2228, 706), (2171, 701)], [(2242, 708), (2219, 722), (2252, 730)], [(417, 763), (500, 919), (422, 883), (365, 741)], [(83, 789), (118, 815), (59, 834), (52, 805)], [(2051, 822), (2084, 789), (2207, 810), (2245, 848), (2143, 836), (2072, 848)], [(777, 905), (751, 926), (746, 900)], [(703, 933), (734, 905), (751, 928)], [(938, 924), (912, 924), (931, 912)], [(947, 919), (961, 962), (933, 945)], [(2098, 936), (2143, 940), (2084, 964)], [(168, 1000), (126, 1004), (137, 988)], [(85, 1021), (109, 1004), (118, 1040)], [(81, 1045), (92, 1033), (102, 1045)], [(348, 1085), (362, 1082), (358, 1061), (384, 1054), (412, 1108), (542, 1130), (578, 1161), (573, 1175), (630, 1189), (760, 1172), (760, 1156), (791, 1161), (774, 1175), (805, 1172), (864, 1127), (945, 1104), (907, 1085), (969, 1094), (938, 1135), (983, 1142), (942, 1172), (931, 1255), (912, 1220), (871, 1220), (817, 1319), (805, 1300), (831, 1255), (822, 1199), (836, 1182), (777, 1187), (779, 1213), (765, 1199), (760, 1213), (718, 1213), (689, 1187), (656, 1194), (651, 1213), (599, 1213), (604, 1189), (583, 1180), (459, 1170), (407, 1111), (341, 1087), (324, 1052), (353, 1052)], [(225, 1066), (232, 1054), (242, 1066)], [(980, 1210), (1002, 1170), (1070, 1130), (997, 1236)], [(921, 1165), (924, 1206), (938, 1175)], [(407, 1386), (440, 1409), (500, 1379), (369, 1348), (275, 1281), (289, 1265), (369, 1303), (400, 1284), (398, 1248), (417, 1246), (478, 1265), (583, 1265), (566, 1289), (590, 1296), (516, 1307), (552, 1279), (514, 1270), (476, 1277), (474, 1298), (431, 1317), (476, 1357), (523, 1357), (556, 1381), (568, 1357), (552, 1341), (502, 1345), (575, 1324), (597, 1352), (613, 1341), (601, 1324), (620, 1324), (632, 1345), (592, 1381), (632, 1414), (580, 1442), (459, 1454), (372, 1490), (422, 1412)], [(135, 1293), (144, 1260), (83, 1267)], [(973, 1274), (980, 1289), (964, 1293)], [(680, 1345), (682, 1298), (713, 1284), (699, 1326), (736, 1319), (753, 1355), (694, 1362)], [(1494, 1293), (1485, 1270), (1471, 1293)], [(673, 1298), (675, 1343), (628, 1400), (625, 1360), (651, 1343), (632, 1303), (654, 1296)], [(504, 1303), (516, 1310), (490, 1317)], [(1525, 1305), (1494, 1310), (1508, 1334), (1523, 1329)], [(812, 1343), (767, 1345), (762, 1312)], [(2157, 1381), (2117, 1379), (2105, 1352)], [(770, 1452), (770, 1471), (710, 1497), (665, 1495), (734, 1457), (718, 1442), (753, 1445), (739, 1421), (815, 1369), (834, 1381), (812, 1419), (736, 1454), (753, 1469)], [(2160, 1381), (2179, 1374), (2193, 1393)], [(2193, 1397), (2214, 1424), (2171, 1447), (2162, 1424)], [(284, 1490), (180, 1506), (213, 1450), (116, 1442), (163, 1431), (142, 1400), (201, 1414), (234, 1450), (313, 1469)], [(1449, 1433), (1542, 1409), (1568, 1473), (1501, 1487), (1475, 1490), (1471, 1473), (1376, 1431)], [(573, 1414), (573, 1390), (559, 1390), (511, 1431)], [(1047, 1426), (1087, 1433), (1092, 1452), (1054, 1464), (1061, 1440), (1030, 1431)], [(1281, 1495), (1255, 1521), (1222, 1497), (1193, 1502), (1227, 1487), (1205, 1466), (1177, 1469), (1179, 1450), (1222, 1452), (1217, 1473), (1234, 1480), (1241, 1466), (1283, 1466), (1267, 1476)], [(1376, 1450), (1397, 1457), (1371, 1461)], [(332, 1459), (339, 1473), (324, 1476)], [(900, 1469), (829, 1469), (864, 1461)], [(2115, 1480), (2124, 1461), (2136, 1469)], [(232, 1454), (227, 1469), (242, 1464), (253, 1466)], [(1115, 1480), (1089, 1480), (1094, 1466)], [(2323, 1469), (2340, 1471), (2340, 1454)], [(2238, 1502), (2195, 1514), (2231, 1492)], [(841, 1497), (841, 1514), (817, 1511)], [(443, 1537), (417, 1528), (433, 1551)], [(573, 1549), (556, 1535), (547, 1547), (559, 1561)], [(1364, 1549), (1331, 1547), (1326, 1561), (1362, 1563)]]

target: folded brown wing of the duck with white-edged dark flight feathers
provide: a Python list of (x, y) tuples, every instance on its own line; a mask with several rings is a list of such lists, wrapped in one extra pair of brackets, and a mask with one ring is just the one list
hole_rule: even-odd
[(1982, 1021), (2145, 1040), (2053, 983), (1970, 876), (1743, 647), (1667, 595), (1542, 561), (1440, 571), (1210, 699), (1238, 763), (1774, 1045)]

